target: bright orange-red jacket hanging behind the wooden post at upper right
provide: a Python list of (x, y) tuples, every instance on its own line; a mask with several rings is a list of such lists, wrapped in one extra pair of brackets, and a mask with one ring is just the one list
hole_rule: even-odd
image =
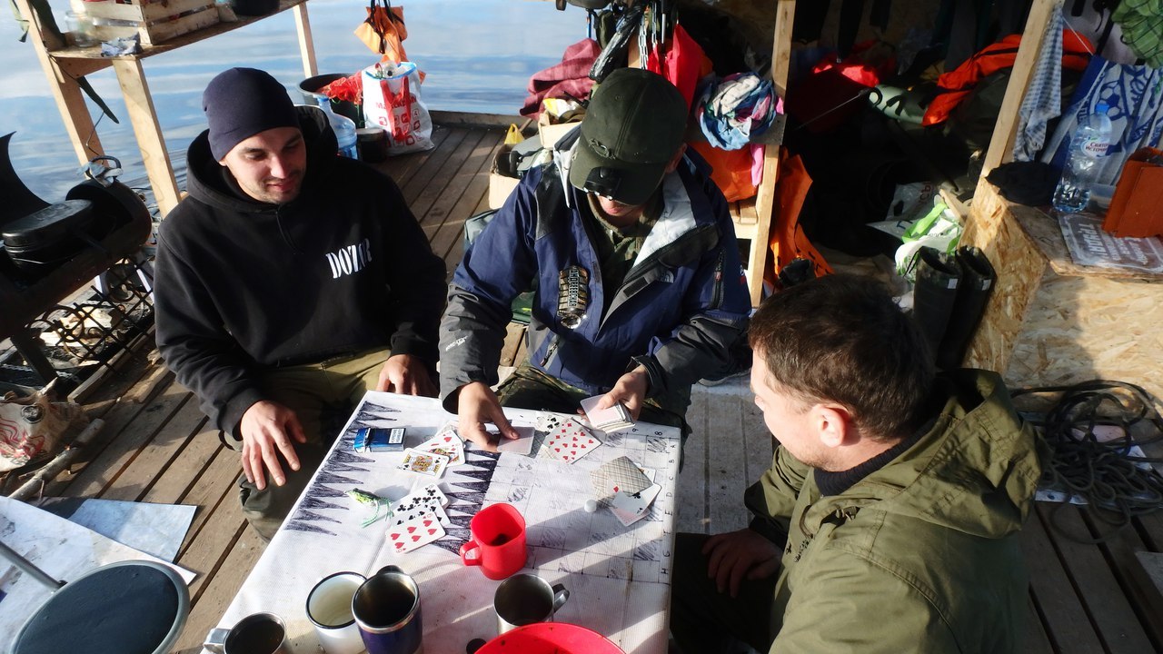
[[(986, 45), (955, 70), (937, 78), (939, 94), (929, 102), (921, 125), (939, 125), (949, 120), (957, 105), (973, 91), (978, 81), (999, 70), (1013, 67), (1019, 45), (1021, 35), (1011, 34), (992, 45)], [(1094, 47), (1085, 36), (1071, 30), (1062, 34), (1063, 67), (1086, 70), (1090, 54), (1093, 51)]]

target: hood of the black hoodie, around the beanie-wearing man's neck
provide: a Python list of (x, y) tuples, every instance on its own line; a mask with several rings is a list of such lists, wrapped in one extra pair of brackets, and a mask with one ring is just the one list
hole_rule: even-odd
[[(327, 114), (319, 107), (297, 106), (295, 113), (299, 116), (299, 129), (302, 130), (304, 142), (307, 144), (307, 172), (299, 193), (301, 198), (307, 193), (308, 187), (320, 184), (320, 179), (327, 178), (328, 170), (335, 165), (338, 141), (335, 138), (335, 133), (331, 131)], [(211, 154), (208, 129), (199, 134), (190, 144), (186, 152), (186, 165), (187, 191), (192, 197), (214, 208), (255, 213), (272, 212), (278, 207), (278, 205), (259, 202), (227, 183), (226, 169)], [(293, 206), (298, 199), (291, 200), (287, 205)]]

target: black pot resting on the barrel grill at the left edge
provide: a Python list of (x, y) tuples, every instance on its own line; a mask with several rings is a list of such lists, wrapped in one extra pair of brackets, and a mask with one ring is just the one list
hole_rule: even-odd
[(93, 241), (93, 202), (76, 199), (49, 205), (0, 228), (12, 262), (37, 273), (69, 261)]

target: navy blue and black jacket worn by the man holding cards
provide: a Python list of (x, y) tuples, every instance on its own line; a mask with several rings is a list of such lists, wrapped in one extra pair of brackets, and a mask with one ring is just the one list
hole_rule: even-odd
[[(604, 393), (641, 363), (649, 397), (659, 397), (688, 393), (730, 365), (750, 301), (722, 193), (697, 155), (687, 155), (664, 177), (664, 208), (622, 285), (606, 287), (578, 211), (585, 196), (569, 183), (578, 131), (558, 142), (551, 163), (526, 173), (457, 268), (441, 322), (441, 397), (449, 411), (461, 386), (497, 383), (509, 303), (534, 279), (529, 362), (566, 384)], [(579, 297), (584, 315), (569, 310)]]

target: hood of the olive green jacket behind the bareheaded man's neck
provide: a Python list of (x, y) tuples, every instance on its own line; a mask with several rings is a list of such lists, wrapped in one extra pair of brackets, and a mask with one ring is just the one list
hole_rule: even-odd
[(934, 426), (843, 493), (814, 502), (804, 516), (807, 529), (864, 510), (991, 539), (1021, 527), (1042, 471), (1033, 428), (994, 372), (958, 370), (937, 384), (946, 399)]

